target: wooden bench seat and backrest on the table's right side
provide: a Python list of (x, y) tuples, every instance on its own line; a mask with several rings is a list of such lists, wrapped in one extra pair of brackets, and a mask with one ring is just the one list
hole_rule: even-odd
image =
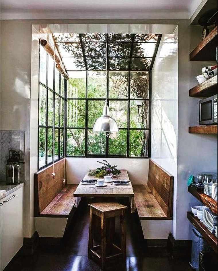
[(172, 220), (173, 176), (149, 161), (147, 185), (133, 185), (140, 220)]

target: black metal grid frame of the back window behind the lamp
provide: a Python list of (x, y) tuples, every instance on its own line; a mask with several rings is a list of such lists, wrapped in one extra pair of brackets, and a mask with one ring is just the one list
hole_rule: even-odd
[[(65, 91), (65, 157), (87, 157), (87, 158), (139, 158), (139, 159), (149, 159), (151, 158), (151, 70), (150, 71), (139, 71), (141, 72), (148, 72), (149, 73), (149, 97), (147, 99), (139, 99), (139, 98), (130, 98), (130, 79), (131, 79), (131, 72), (138, 72), (138, 71), (125, 71), (128, 72), (128, 98), (109, 98), (109, 73), (113, 72), (108, 70), (108, 76), (107, 76), (107, 93), (106, 98), (88, 98), (88, 72), (90, 70), (80, 70), (79, 72), (84, 71), (86, 72), (86, 80), (85, 80), (85, 98), (68, 98), (67, 97), (67, 84), (66, 84), (66, 91)], [(102, 70), (105, 72), (105, 70)], [(75, 72), (78, 72), (78, 70), (75, 70)], [(99, 72), (99, 70), (97, 71)], [(122, 71), (119, 71), (122, 72)], [(67, 101), (68, 100), (85, 100), (85, 127), (67, 127)], [(108, 105), (110, 107), (110, 101), (127, 101), (127, 109), (128, 109), (128, 123), (126, 128), (120, 128), (119, 130), (126, 130), (127, 131), (127, 155), (110, 155), (109, 154), (109, 138), (106, 136), (106, 151), (105, 155), (100, 154), (88, 154), (88, 130), (92, 130), (93, 127), (88, 127), (88, 101), (105, 101), (107, 100)], [(142, 101), (148, 101), (149, 102), (149, 124), (148, 128), (130, 128), (130, 102), (134, 100), (142, 100)], [(103, 110), (103, 107), (102, 107)], [(82, 129), (85, 130), (85, 155), (67, 155), (67, 129)], [(148, 131), (148, 156), (130, 156), (130, 146), (129, 146), (129, 138), (130, 138), (130, 131), (132, 130), (141, 130), (141, 131)], [(106, 135), (108, 135), (108, 132), (106, 132)]]

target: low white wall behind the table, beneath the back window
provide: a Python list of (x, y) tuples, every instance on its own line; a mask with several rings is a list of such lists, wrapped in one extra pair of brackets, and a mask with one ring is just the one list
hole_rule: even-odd
[[(66, 171), (68, 183), (79, 183), (89, 169), (101, 167), (97, 161), (102, 162), (104, 158), (66, 158)], [(133, 184), (147, 183), (149, 159), (135, 158), (106, 158), (118, 169), (126, 169), (129, 179)]]

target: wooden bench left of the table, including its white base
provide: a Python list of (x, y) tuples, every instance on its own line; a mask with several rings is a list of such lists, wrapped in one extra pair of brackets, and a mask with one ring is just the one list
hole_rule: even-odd
[(77, 184), (63, 187), (64, 171), (65, 158), (54, 163), (55, 178), (51, 175), (52, 165), (34, 174), (35, 222), (41, 237), (63, 237), (75, 213), (76, 198), (73, 193)]

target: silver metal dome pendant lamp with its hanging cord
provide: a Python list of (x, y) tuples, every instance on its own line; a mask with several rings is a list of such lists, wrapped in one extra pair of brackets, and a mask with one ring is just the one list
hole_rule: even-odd
[[(106, 94), (107, 94), (107, 88), (108, 88), (108, 69), (107, 69), (107, 63), (108, 63), (108, 35), (106, 35)], [(93, 127), (94, 132), (118, 132), (118, 126), (116, 124), (115, 119), (110, 117), (109, 115), (109, 106), (107, 103), (107, 100), (105, 100), (105, 105), (103, 108), (103, 115), (99, 117)]]

